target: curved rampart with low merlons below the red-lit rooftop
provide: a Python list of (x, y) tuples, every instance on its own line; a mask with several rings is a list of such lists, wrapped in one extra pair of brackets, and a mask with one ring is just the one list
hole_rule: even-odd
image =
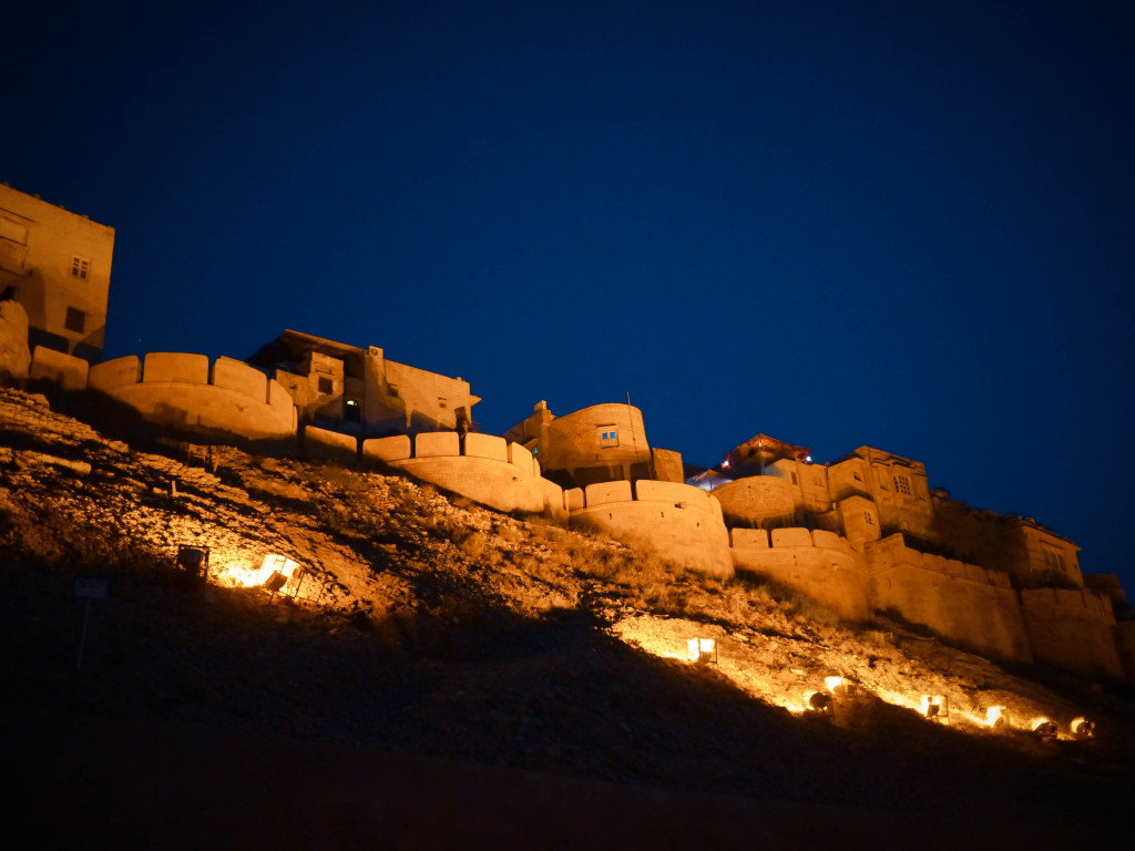
[(730, 555), (738, 570), (768, 576), (810, 597), (840, 617), (871, 615), (867, 571), (844, 538), (823, 530), (733, 529)]

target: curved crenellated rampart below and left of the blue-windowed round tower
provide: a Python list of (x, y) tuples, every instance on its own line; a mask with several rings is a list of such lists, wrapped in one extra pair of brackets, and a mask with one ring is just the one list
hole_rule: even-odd
[(424, 431), (363, 440), (364, 461), (380, 461), (422, 481), (499, 511), (548, 512), (566, 519), (563, 489), (540, 475), (532, 453), (493, 435)]

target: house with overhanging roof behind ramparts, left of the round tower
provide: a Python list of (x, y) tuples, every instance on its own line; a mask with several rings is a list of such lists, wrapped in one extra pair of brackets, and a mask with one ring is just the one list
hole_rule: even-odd
[(479, 396), (460, 376), (389, 361), (381, 348), (285, 330), (249, 359), (281, 384), (303, 424), (385, 437), (439, 429), (465, 432)]

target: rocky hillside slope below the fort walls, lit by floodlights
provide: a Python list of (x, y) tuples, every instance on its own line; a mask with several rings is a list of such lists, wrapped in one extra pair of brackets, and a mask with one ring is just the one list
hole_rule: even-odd
[[(210, 548), (208, 584), (175, 567), (180, 545)], [(241, 587), (268, 556), (302, 581)], [(106, 599), (76, 596), (81, 579)], [(15, 390), (0, 391), (0, 610), (5, 727), (33, 764), (31, 719), (102, 719), (1049, 836), (1119, 829), (1135, 791), (1124, 686), (841, 624), (756, 580), (686, 574), (380, 469), (109, 439)], [(715, 639), (714, 662), (684, 659), (693, 637)], [(801, 714), (831, 676), (860, 697)], [(948, 698), (949, 724), (913, 711), (923, 694)], [(998, 730), (982, 723), (994, 706)], [(1041, 716), (1059, 740), (1027, 731)], [(1094, 739), (1067, 734), (1077, 716)]]

